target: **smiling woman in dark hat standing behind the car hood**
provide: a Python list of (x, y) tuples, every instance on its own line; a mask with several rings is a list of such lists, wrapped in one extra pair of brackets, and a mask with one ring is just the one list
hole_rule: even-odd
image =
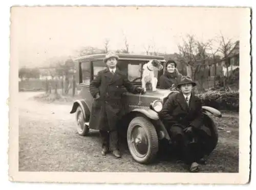
[(177, 86), (182, 74), (179, 73), (177, 64), (174, 60), (169, 60), (166, 63), (165, 73), (159, 78), (160, 89), (170, 89)]

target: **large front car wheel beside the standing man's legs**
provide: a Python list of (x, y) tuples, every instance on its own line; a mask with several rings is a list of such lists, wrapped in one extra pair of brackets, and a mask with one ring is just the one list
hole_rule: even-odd
[(154, 125), (144, 117), (134, 118), (127, 129), (127, 144), (134, 160), (150, 164), (157, 155), (159, 144)]

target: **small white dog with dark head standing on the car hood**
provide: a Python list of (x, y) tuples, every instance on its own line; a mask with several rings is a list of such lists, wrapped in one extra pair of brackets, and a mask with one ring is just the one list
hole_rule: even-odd
[(154, 69), (157, 69), (158, 71), (163, 69), (163, 66), (158, 60), (154, 59), (143, 65), (141, 86), (144, 92), (146, 92), (146, 85), (148, 83), (151, 84), (152, 91), (156, 91), (157, 77), (154, 76)]

